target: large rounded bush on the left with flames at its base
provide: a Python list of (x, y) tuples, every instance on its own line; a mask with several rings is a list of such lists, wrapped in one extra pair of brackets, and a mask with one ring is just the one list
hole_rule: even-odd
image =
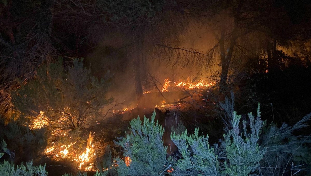
[(112, 99), (105, 97), (107, 79), (92, 77), (82, 61), (74, 59), (71, 67), (64, 68), (60, 58), (56, 63), (38, 68), (35, 78), (15, 94), (16, 108), (30, 117), (31, 122), (53, 129), (73, 130), (94, 122)]

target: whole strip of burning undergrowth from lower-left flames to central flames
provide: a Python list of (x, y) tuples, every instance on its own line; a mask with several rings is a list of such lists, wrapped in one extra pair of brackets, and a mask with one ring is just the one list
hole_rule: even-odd
[[(98, 156), (104, 155), (104, 148), (107, 144), (113, 144), (112, 141), (117, 137), (124, 136), (128, 121), (132, 118), (138, 115), (143, 117), (144, 114), (152, 112), (154, 108), (158, 109), (160, 116), (166, 116), (167, 111), (182, 111), (187, 108), (200, 109), (209, 101), (208, 92), (215, 85), (214, 82), (190, 78), (177, 81), (166, 78), (164, 82), (153, 80), (153, 83), (134, 107), (121, 110), (111, 108), (109, 117), (106, 117), (108, 112), (102, 115), (102, 117), (106, 117), (104, 120), (101, 117), (94, 117), (92, 118), (94, 121), (90, 123), (92, 125), (89, 126), (67, 130), (51, 128), (44, 156), (55, 161), (71, 161), (79, 170), (95, 171), (97, 170)], [(64, 115), (68, 115), (67, 111), (69, 112), (69, 110), (63, 111)], [(66, 118), (61, 115), (55, 123), (62, 124)], [(40, 111), (30, 123), (30, 128), (49, 127), (50, 123), (47, 113)], [(124, 160), (130, 163), (130, 158), (124, 158)]]

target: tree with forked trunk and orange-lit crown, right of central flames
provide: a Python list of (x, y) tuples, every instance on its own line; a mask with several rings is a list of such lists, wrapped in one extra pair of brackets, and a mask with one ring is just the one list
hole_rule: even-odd
[(220, 60), (221, 93), (228, 91), (226, 87), (230, 71), (234, 71), (234, 64), (241, 64), (241, 58), (255, 58), (259, 62), (262, 58), (257, 57), (257, 53), (265, 51), (266, 65), (271, 68), (276, 64), (273, 58), (277, 58), (278, 43), (283, 42), (285, 38), (287, 41), (301, 38), (302, 33), (309, 36), (306, 25), (302, 25), (301, 29), (298, 27), (308, 20), (294, 25), (293, 21), (290, 21), (291, 17), (286, 14), (293, 11), (290, 6), (302, 7), (301, 2), (288, 2), (284, 5), (273, 0), (222, 0), (210, 2), (205, 7), (200, 6), (200, 3), (202, 1), (189, 3), (184, 13), (196, 23), (202, 24), (202, 28), (207, 28), (215, 37), (216, 44), (207, 49), (207, 55), (213, 60)]

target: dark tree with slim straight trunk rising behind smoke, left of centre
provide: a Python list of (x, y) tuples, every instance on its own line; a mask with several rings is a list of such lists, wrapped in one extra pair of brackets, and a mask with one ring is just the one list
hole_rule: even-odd
[[(142, 41), (146, 31), (155, 25), (157, 15), (162, 11), (166, 2), (166, 0), (96, 0), (94, 2), (62, 0), (55, 3), (53, 14), (56, 19), (63, 21), (61, 26), (66, 24), (65, 27), (67, 27), (68, 22), (72, 24), (73, 29), (68, 30), (76, 36), (76, 40), (84, 37), (84, 42), (91, 46), (101, 42), (98, 40), (97, 43), (91, 42), (92, 38), (98, 37), (94, 36), (98, 34), (93, 31), (93, 26), (100, 26), (102, 29), (113, 26), (120, 31), (128, 31), (125, 37), (130, 44), (125, 47), (129, 48), (129, 53), (133, 54), (125, 59), (132, 64), (134, 84), (139, 100), (143, 94), (141, 75), (143, 75), (142, 63), (145, 60)], [(96, 30), (98, 32), (98, 29)]]

